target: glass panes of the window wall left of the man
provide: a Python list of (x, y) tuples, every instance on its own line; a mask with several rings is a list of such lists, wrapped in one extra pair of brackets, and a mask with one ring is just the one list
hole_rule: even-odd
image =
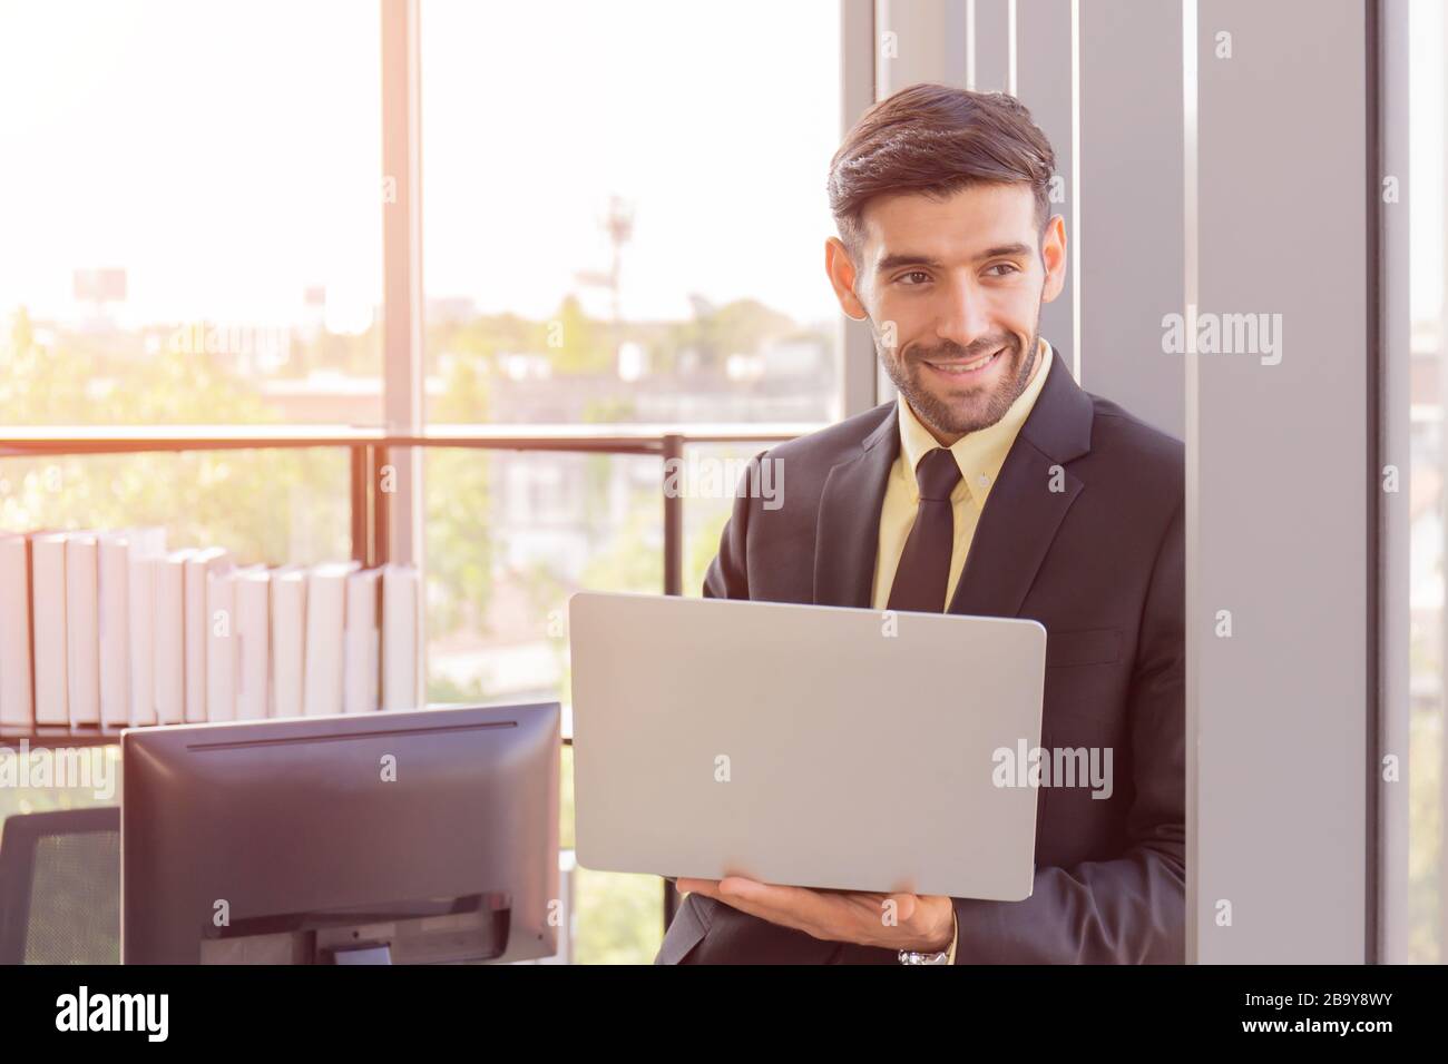
[[(125, 452), (133, 426), (382, 423), (385, 359), (413, 356), (382, 336), (395, 10), (0, 10), (0, 94), (26, 101), (0, 109), (0, 426), (98, 427)], [(426, 421), (656, 436), (835, 420), (821, 245), (837, 17), (762, 0), (426, 0)], [(161, 524), (172, 547), (243, 562), (350, 556), (376, 498), (363, 465), (336, 440), (279, 449), (264, 433), (236, 450), (68, 455), (70, 434), (0, 449), (0, 530)], [(760, 446), (686, 449), (725, 481), (685, 492), (685, 594)], [(430, 701), (566, 708), (568, 595), (663, 589), (660, 455), (627, 452), (423, 450), (424, 486), (395, 505), (424, 517)], [(571, 766), (565, 748), (565, 847)], [(88, 801), (12, 790), (0, 819)], [(656, 877), (579, 869), (575, 958), (652, 960), (660, 909)]]

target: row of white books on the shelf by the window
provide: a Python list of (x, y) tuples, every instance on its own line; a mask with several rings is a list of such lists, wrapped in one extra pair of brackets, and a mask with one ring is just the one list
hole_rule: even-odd
[(413, 566), (237, 565), (164, 528), (0, 533), (0, 730), (410, 709)]

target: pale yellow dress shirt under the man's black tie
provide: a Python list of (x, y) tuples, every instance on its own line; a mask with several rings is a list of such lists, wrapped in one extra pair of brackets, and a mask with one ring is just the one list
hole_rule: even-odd
[[(976, 525), (980, 523), (980, 512), (985, 510), (990, 485), (1001, 475), (1005, 456), (1015, 443), (1016, 433), (1025, 424), (1035, 398), (1045, 385), (1045, 375), (1051, 372), (1051, 347), (1045, 340), (1040, 340), (1040, 359), (1037, 359), (1035, 373), (1025, 391), (1016, 397), (1015, 402), (999, 421), (988, 428), (966, 433), (950, 447), (960, 466), (960, 482), (950, 494), (950, 510), (956, 518), (956, 539), (950, 547), (950, 582), (946, 585), (946, 598), (940, 604), (941, 612), (956, 594), (960, 573), (966, 569), (966, 554), (970, 552), (970, 540), (975, 539)], [(915, 511), (919, 510), (919, 482), (915, 479), (915, 466), (940, 442), (930, 434), (930, 430), (919, 423), (915, 411), (904, 395), (896, 397), (901, 426), (901, 453), (891, 466), (889, 482), (885, 486), (885, 502), (880, 504), (880, 540), (875, 554), (875, 598), (876, 609), (885, 609), (891, 601), (891, 586), (895, 583), (895, 570), (899, 567), (901, 554), (905, 550), (905, 540), (915, 524)], [(956, 945), (960, 941), (960, 921), (951, 913), (954, 932), (950, 938), (950, 955), (947, 964), (956, 963)]]

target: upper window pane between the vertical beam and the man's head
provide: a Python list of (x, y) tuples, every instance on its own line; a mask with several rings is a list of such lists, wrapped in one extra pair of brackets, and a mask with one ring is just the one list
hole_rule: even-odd
[(833, 420), (834, 10), (427, 0), (429, 375), (476, 420)]

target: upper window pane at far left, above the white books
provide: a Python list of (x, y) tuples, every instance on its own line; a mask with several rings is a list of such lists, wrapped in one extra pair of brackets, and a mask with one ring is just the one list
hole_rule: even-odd
[(4, 7), (0, 424), (381, 420), (379, 25)]

